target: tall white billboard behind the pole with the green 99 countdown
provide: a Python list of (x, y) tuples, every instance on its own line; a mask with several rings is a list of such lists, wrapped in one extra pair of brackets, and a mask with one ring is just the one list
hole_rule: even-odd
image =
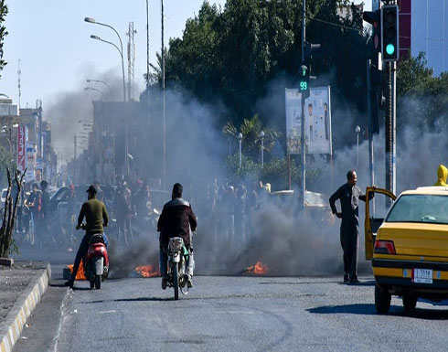
[[(289, 154), (301, 154), (302, 95), (285, 89), (286, 146)], [(330, 87), (311, 88), (304, 101), (305, 146), (307, 154), (332, 154)]]

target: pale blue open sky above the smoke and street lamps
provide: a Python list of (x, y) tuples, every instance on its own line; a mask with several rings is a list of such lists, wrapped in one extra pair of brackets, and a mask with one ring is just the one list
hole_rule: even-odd
[[(203, 0), (165, 0), (165, 45), (169, 37), (180, 37), (187, 18), (197, 13)], [(224, 6), (225, 0), (208, 1)], [(360, 1), (356, 1), (359, 3)], [(150, 52), (160, 51), (160, 1), (150, 0)], [(51, 105), (62, 91), (82, 89), (86, 78), (98, 79), (105, 72), (121, 77), (121, 59), (115, 48), (90, 38), (91, 34), (116, 42), (111, 29), (84, 22), (84, 17), (115, 27), (127, 43), (130, 21), (137, 34), (135, 82), (144, 86), (146, 71), (145, 0), (11, 0), (5, 26), (4, 59), (0, 92), (18, 101), (17, 64), (21, 60), (21, 106), (34, 107), (37, 99)], [(125, 62), (127, 74), (127, 65)], [(89, 76), (89, 77), (88, 77)], [(97, 77), (94, 77), (97, 76)]]

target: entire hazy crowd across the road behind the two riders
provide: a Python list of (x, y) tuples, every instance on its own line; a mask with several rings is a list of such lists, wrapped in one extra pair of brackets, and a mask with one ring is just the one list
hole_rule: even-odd
[[(155, 234), (158, 216), (169, 200), (168, 192), (161, 194), (155, 204), (153, 193), (156, 191), (144, 180), (122, 181), (117, 187), (100, 185), (97, 181), (93, 185), (98, 190), (97, 198), (104, 202), (110, 214), (106, 232), (112, 241), (129, 246), (139, 236)], [(18, 238), (41, 247), (76, 247), (81, 236), (75, 226), (80, 206), (85, 201), (84, 188), (69, 183), (63, 197), (57, 197), (57, 188), (52, 189), (51, 196), (56, 194), (58, 199), (51, 200), (50, 207), (47, 181), (26, 184), (17, 207)], [(251, 215), (261, 208), (270, 192), (270, 184), (262, 182), (231, 184), (215, 179), (202, 191), (188, 192), (187, 197), (201, 219), (201, 227), (207, 229), (208, 239), (217, 245), (245, 246), (254, 234)]]

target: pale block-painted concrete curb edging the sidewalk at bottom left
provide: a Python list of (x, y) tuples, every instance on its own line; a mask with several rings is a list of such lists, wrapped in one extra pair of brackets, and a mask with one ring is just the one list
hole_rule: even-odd
[(5, 322), (0, 325), (0, 352), (12, 352), (27, 323), (28, 316), (31, 315), (47, 291), (50, 278), (51, 267), (48, 263), (47, 268), (39, 271), (37, 277), (17, 297), (16, 303), (6, 315)]

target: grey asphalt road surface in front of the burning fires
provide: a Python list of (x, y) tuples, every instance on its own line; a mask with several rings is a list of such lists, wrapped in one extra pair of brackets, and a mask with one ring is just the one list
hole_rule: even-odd
[(179, 301), (159, 278), (109, 280), (99, 291), (60, 283), (60, 275), (52, 280), (15, 351), (446, 348), (446, 307), (419, 302), (408, 315), (392, 298), (389, 315), (377, 315), (369, 277), (347, 285), (339, 277), (199, 276)]

